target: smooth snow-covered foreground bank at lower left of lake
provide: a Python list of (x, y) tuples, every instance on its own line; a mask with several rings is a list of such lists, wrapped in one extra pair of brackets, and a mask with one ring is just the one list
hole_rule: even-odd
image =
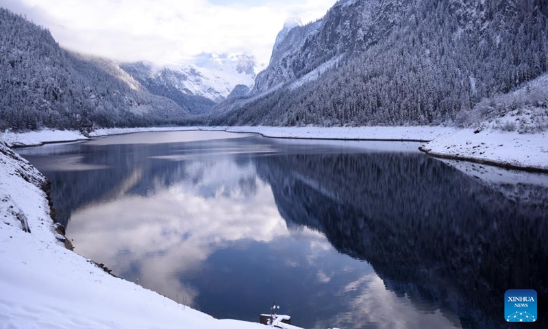
[(0, 173), (0, 328), (268, 328), (214, 319), (110, 276), (64, 248), (44, 176), (1, 143)]

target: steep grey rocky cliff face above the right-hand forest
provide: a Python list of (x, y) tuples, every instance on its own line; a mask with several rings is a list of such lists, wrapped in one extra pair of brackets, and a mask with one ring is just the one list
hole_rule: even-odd
[(375, 44), (399, 22), (409, 2), (339, 1), (319, 21), (286, 24), (277, 36), (268, 68), (256, 79), (256, 93), (298, 79), (342, 53)]

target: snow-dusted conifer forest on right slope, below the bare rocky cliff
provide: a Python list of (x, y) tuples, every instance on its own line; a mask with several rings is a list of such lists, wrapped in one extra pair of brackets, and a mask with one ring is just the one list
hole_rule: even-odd
[(436, 124), (457, 115), (464, 122), (482, 99), (548, 71), (543, 1), (519, 2), (410, 1), (386, 38), (347, 53), (314, 82), (289, 82), (212, 123)]

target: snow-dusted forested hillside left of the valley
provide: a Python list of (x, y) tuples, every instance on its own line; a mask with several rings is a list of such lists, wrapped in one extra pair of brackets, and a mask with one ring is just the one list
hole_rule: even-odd
[(0, 129), (180, 124), (188, 117), (114, 62), (61, 49), (47, 29), (3, 8), (0, 94)]

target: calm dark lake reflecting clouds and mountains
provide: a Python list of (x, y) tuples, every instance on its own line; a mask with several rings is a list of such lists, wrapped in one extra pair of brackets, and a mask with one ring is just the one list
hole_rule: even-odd
[[(154, 132), (18, 149), (75, 251), (217, 318), (303, 328), (548, 328), (548, 178), (416, 143)], [(465, 171), (469, 171), (465, 173)], [(60, 278), (62, 280), (62, 278)]]

